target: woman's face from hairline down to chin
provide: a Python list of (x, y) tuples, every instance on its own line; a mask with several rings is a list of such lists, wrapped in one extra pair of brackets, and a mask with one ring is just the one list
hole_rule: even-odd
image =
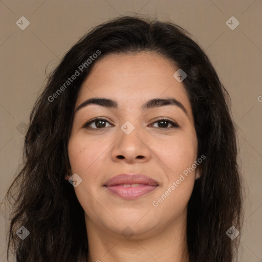
[[(177, 70), (156, 53), (111, 54), (94, 64), (83, 83), (68, 145), (70, 176), (65, 179), (75, 173), (82, 179), (74, 189), (88, 230), (119, 234), (128, 226), (145, 236), (186, 219), (199, 176), (198, 167), (192, 168), (198, 141), (187, 92), (173, 77)], [(91, 98), (114, 100), (117, 106), (83, 104)], [(147, 103), (152, 99), (174, 102)], [(138, 177), (141, 184), (134, 183), (139, 186), (129, 187), (124, 180), (108, 185), (123, 173), (143, 174), (155, 184)]]

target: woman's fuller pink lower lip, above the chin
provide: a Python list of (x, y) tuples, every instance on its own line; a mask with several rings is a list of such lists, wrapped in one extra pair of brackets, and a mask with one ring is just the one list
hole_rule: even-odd
[(123, 187), (120, 185), (116, 185), (116, 186), (106, 186), (106, 188), (107, 190), (109, 190), (115, 195), (118, 195), (118, 197), (122, 199), (132, 200), (142, 197), (142, 195), (154, 191), (157, 188), (157, 186), (141, 185), (136, 187)]

